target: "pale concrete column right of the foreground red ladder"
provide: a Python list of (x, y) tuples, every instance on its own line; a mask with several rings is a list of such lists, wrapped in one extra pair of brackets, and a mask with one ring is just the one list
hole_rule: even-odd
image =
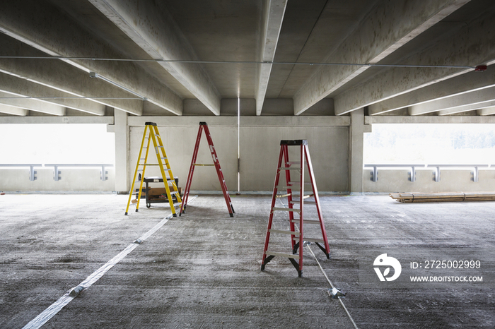
[(371, 125), (364, 124), (364, 110), (351, 112), (349, 126), (349, 191), (363, 193), (363, 143), (364, 133), (371, 133)]

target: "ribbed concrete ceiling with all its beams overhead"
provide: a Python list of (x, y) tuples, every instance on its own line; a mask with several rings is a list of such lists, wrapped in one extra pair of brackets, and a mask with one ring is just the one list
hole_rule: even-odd
[(1, 1), (0, 115), (490, 115), (494, 31), (491, 0)]

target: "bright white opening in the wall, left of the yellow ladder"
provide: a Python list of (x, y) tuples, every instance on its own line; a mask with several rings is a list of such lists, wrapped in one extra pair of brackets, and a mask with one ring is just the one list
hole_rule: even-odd
[(1, 164), (115, 162), (115, 136), (105, 124), (0, 125)]

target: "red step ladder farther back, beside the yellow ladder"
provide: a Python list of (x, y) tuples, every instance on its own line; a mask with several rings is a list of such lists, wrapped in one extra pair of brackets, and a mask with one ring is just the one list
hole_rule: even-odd
[[(204, 134), (206, 135), (206, 140), (208, 141), (211, 157), (213, 158), (213, 164), (196, 163), (202, 131), (204, 131)], [(225, 178), (223, 178), (223, 172), (220, 167), (219, 157), (216, 156), (215, 146), (213, 145), (213, 140), (211, 140), (210, 131), (208, 129), (208, 124), (206, 124), (206, 122), (199, 122), (198, 136), (196, 138), (196, 145), (194, 145), (194, 152), (192, 152), (191, 167), (189, 169), (189, 174), (187, 175), (187, 181), (186, 181), (185, 191), (182, 197), (182, 204), (180, 205), (179, 216), (185, 213), (187, 207), (187, 199), (189, 198), (189, 192), (191, 189), (192, 175), (194, 174), (194, 168), (197, 166), (215, 166), (216, 174), (219, 176), (220, 186), (223, 192), (223, 198), (225, 198), (225, 202), (227, 204), (228, 213), (231, 215), (231, 217), (234, 217), (235, 211), (232, 205), (231, 196), (228, 194), (227, 184), (225, 183)]]

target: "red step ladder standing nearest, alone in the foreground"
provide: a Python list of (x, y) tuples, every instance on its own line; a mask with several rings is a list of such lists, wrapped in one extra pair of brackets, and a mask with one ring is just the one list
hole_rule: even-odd
[[(289, 161), (289, 146), (301, 147), (301, 158), (299, 161)], [(308, 174), (310, 181), (304, 180), (304, 164), (307, 164)], [(299, 181), (292, 181), (291, 171), (298, 171)], [(285, 172), (286, 184), (279, 186), (280, 172)], [(313, 193), (305, 194), (304, 185), (310, 184)], [(284, 194), (277, 194), (279, 190), (286, 190)], [(298, 192), (298, 196), (295, 193)], [(314, 197), (315, 201), (304, 201), (306, 198)], [(288, 208), (275, 207), (276, 198), (287, 198)], [(299, 205), (299, 208), (294, 208), (294, 205)], [(304, 219), (304, 205), (313, 204), (316, 206), (318, 213), (318, 220), (305, 220)], [(273, 215), (276, 211), (289, 212), (289, 231), (272, 229)], [(294, 214), (298, 214), (299, 218), (294, 218)], [(322, 239), (308, 238), (303, 235), (303, 224), (305, 225), (320, 225)], [(298, 225), (298, 226), (297, 226)], [(270, 234), (288, 234), (291, 236), (292, 253), (279, 253), (276, 251), (268, 250), (270, 241)], [(315, 175), (313, 174), (313, 165), (311, 164), (311, 158), (308, 150), (308, 140), (281, 140), (280, 141), (280, 155), (279, 164), (276, 167), (275, 184), (272, 195), (272, 206), (270, 208), (270, 217), (268, 220), (267, 236), (264, 240), (264, 250), (261, 270), (264, 270), (265, 265), (272, 261), (275, 256), (287, 257), (291, 261), (292, 265), (298, 271), (298, 276), (303, 275), (303, 246), (315, 243), (330, 259), (330, 247), (328, 246), (327, 232), (325, 231), (325, 225), (323, 223), (322, 211), (320, 207), (320, 198), (318, 196), (318, 189), (316, 188)], [(299, 249), (299, 254), (297, 251)], [(298, 260), (298, 261), (296, 261)]]

